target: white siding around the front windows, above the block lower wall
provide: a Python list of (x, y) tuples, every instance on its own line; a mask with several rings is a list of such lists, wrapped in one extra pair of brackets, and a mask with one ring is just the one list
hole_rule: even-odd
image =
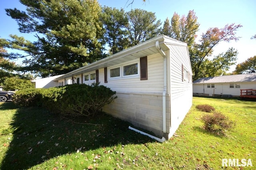
[[(100, 69), (100, 84), (103, 84), (116, 92), (162, 93), (164, 77), (162, 56), (160, 54), (148, 56), (148, 80), (140, 80), (139, 60), (136, 59), (130, 61), (129, 63), (123, 64), (123, 66), (129, 66), (136, 63), (138, 63), (138, 74), (122, 76), (122, 78), (110, 78), (108, 76), (108, 83), (104, 83), (104, 69)], [(111, 69), (112, 68), (108, 68), (108, 74), (110, 74), (109, 70)]]

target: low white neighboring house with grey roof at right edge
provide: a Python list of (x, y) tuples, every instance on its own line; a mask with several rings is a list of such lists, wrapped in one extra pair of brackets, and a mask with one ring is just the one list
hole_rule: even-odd
[(244, 89), (256, 89), (256, 73), (206, 77), (193, 82), (195, 96), (238, 97)]

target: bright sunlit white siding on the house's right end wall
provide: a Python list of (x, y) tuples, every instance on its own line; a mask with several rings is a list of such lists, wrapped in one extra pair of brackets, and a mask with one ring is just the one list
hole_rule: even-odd
[[(183, 81), (182, 68), (192, 74), (190, 58), (186, 46), (168, 45), (170, 52), (168, 64), (170, 66), (170, 134), (174, 133), (192, 106), (192, 80)], [(180, 107), (180, 104), (182, 107)]]

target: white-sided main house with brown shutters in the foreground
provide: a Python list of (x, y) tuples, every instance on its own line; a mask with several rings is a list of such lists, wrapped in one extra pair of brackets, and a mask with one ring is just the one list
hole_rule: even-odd
[(160, 35), (55, 79), (60, 85), (100, 82), (116, 91), (103, 111), (169, 139), (192, 106), (186, 43)]

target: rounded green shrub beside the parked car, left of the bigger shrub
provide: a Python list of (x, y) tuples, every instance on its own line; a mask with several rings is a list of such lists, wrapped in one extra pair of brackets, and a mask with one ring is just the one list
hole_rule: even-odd
[(42, 90), (38, 88), (27, 88), (19, 90), (14, 94), (13, 102), (19, 106), (41, 107), (42, 106)]

